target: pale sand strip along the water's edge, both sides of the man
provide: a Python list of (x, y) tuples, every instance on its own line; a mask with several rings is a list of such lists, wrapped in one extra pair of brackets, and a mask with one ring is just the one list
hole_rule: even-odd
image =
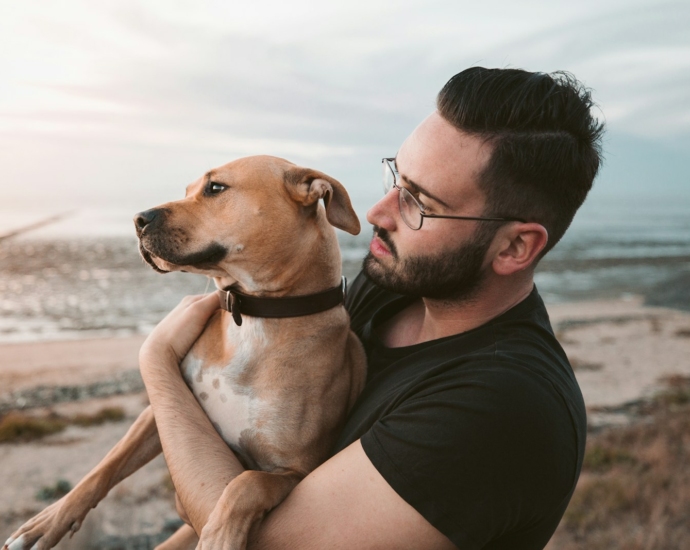
[[(620, 406), (650, 395), (665, 377), (690, 376), (688, 312), (646, 305), (642, 296), (549, 303), (547, 310), (588, 408)], [(131, 374), (145, 338), (0, 343), (0, 405), (10, 394), (87, 387)]]

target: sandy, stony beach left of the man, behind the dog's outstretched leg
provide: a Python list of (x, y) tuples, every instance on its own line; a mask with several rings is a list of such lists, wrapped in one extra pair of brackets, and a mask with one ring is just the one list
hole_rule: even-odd
[[(103, 410), (122, 412), (117, 421), (69, 425), (35, 441), (0, 444), (2, 535), (9, 536), (51, 502), (39, 498), (41, 490), (60, 480), (76, 485), (147, 406), (140, 379), (122, 383), (132, 374), (138, 379), (142, 341), (135, 336), (0, 346), (3, 412), (22, 411), (39, 418), (89, 418)], [(56, 393), (60, 389), (67, 391)], [(27, 399), (27, 395), (31, 397)], [(159, 541), (166, 529), (179, 523), (173, 498), (165, 461), (159, 456), (111, 491), (89, 513), (79, 533), (58, 548), (84, 549), (95, 542), (98, 548), (126, 548), (122, 544), (142, 543), (142, 538), (144, 544), (148, 539)], [(152, 547), (140, 547), (147, 546)]]

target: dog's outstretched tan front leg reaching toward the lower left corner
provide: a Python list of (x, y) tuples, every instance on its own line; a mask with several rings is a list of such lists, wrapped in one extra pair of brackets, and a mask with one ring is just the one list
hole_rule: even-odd
[(74, 489), (27, 521), (3, 550), (47, 550), (68, 532), (76, 533), (86, 514), (108, 491), (161, 452), (151, 407), (147, 407), (125, 436)]

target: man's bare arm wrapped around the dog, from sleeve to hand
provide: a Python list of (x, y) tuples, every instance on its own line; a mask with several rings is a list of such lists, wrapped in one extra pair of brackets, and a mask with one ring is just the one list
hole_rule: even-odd
[[(243, 471), (179, 371), (180, 359), (217, 308), (215, 295), (186, 299), (140, 354), (170, 474), (197, 533), (227, 484)], [(393, 491), (358, 441), (309, 474), (253, 532), (249, 547), (455, 548)]]

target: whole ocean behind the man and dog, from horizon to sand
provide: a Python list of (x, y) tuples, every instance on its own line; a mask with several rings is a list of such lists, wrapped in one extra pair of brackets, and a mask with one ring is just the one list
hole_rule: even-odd
[[(47, 213), (0, 212), (0, 343), (146, 334), (182, 296), (204, 292), (202, 276), (144, 264), (133, 213), (84, 209), (2, 239)], [(370, 238), (366, 224), (339, 234), (348, 278)], [(588, 199), (535, 281), (547, 303), (643, 296), (690, 310), (690, 199)]]

